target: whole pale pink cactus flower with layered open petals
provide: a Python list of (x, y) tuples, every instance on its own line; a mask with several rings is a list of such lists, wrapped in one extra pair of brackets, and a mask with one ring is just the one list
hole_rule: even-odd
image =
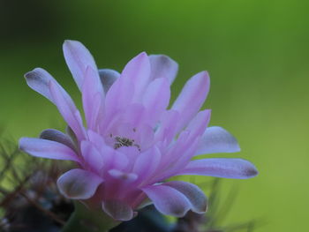
[(20, 138), (19, 146), (34, 156), (76, 163), (57, 181), (65, 197), (102, 207), (119, 221), (131, 220), (147, 198), (160, 212), (182, 217), (189, 210), (204, 213), (207, 199), (192, 183), (163, 183), (171, 176), (257, 175), (252, 163), (241, 159), (192, 161), (200, 154), (240, 150), (228, 131), (207, 128), (210, 110), (200, 111), (209, 90), (207, 71), (189, 79), (168, 109), (178, 70), (168, 56), (140, 53), (121, 74), (98, 70), (79, 41), (64, 42), (64, 58), (82, 94), (87, 127), (64, 88), (36, 68), (26, 73), (28, 86), (57, 106), (68, 130)]

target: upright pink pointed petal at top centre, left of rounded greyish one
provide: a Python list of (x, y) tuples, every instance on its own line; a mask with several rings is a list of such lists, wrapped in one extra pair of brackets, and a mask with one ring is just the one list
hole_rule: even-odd
[(132, 58), (132, 60), (125, 65), (120, 79), (131, 79), (134, 84), (133, 101), (139, 101), (150, 81), (150, 63), (147, 54), (142, 52), (138, 56)]

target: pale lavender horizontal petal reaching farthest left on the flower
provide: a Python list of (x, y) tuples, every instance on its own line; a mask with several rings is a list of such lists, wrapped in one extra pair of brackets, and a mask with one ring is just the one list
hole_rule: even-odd
[(79, 161), (79, 157), (70, 147), (47, 139), (20, 138), (19, 149), (36, 157)]

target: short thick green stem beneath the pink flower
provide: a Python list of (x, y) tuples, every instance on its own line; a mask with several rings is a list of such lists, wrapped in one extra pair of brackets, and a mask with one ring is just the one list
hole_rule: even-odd
[(119, 224), (102, 211), (90, 211), (86, 206), (75, 202), (75, 211), (62, 232), (108, 232)]

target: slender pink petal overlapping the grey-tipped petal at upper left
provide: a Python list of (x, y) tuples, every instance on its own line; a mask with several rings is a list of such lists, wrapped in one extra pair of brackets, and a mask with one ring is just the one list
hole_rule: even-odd
[(72, 99), (61, 91), (61, 88), (54, 81), (49, 82), (49, 91), (55, 102), (60, 114), (64, 120), (72, 128), (77, 138), (83, 140), (86, 132), (82, 123), (79, 110), (76, 108)]

